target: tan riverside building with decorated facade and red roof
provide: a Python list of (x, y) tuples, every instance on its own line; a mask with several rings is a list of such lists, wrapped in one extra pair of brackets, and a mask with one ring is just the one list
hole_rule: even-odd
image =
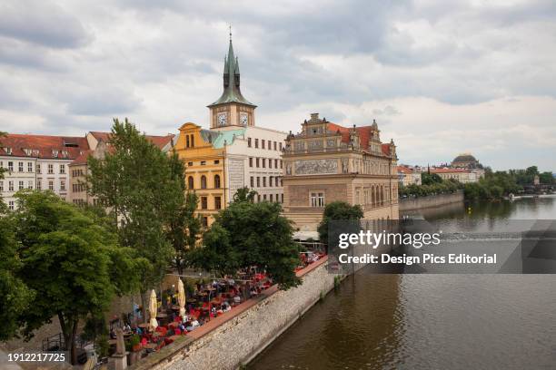
[(348, 128), (313, 113), (288, 135), (283, 161), (284, 215), (297, 227), (316, 229), (336, 200), (361, 205), (365, 219), (398, 219), (396, 147), (376, 122)]

